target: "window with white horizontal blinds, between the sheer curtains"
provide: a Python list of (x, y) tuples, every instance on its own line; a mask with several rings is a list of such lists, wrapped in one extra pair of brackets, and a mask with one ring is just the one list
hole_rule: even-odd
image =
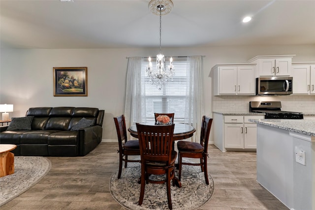
[[(154, 61), (152, 63), (155, 63)], [(147, 76), (146, 67), (149, 62), (142, 62), (141, 71), (144, 78), (141, 82), (145, 84), (146, 121), (154, 122), (154, 113), (175, 113), (175, 122), (184, 122), (185, 105), (187, 94), (187, 58), (173, 58), (175, 75), (161, 90), (152, 84)]]

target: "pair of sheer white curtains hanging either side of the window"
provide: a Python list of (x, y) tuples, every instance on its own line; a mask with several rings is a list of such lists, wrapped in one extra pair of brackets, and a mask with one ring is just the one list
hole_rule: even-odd
[[(146, 122), (147, 119), (145, 84), (143, 82), (144, 62), (144, 58), (141, 57), (129, 57), (128, 59), (125, 104), (127, 127), (135, 122)], [(187, 77), (184, 123), (192, 125), (196, 129), (192, 140), (199, 141), (200, 124), (204, 113), (202, 56), (187, 57)]]

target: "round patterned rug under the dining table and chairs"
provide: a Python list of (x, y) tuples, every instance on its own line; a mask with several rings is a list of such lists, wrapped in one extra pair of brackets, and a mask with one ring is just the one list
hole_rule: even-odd
[[(146, 184), (144, 200), (138, 205), (141, 176), (140, 163), (128, 163), (123, 168), (122, 176), (117, 179), (118, 170), (110, 179), (109, 188), (113, 198), (128, 210), (164, 210), (168, 209), (166, 197), (166, 183)], [(184, 165), (182, 169), (182, 188), (171, 185), (173, 210), (197, 210), (204, 206), (213, 196), (215, 184), (209, 175), (209, 185), (206, 184), (204, 174), (198, 166)], [(176, 171), (178, 177), (178, 171)], [(150, 176), (152, 178), (152, 175)], [(158, 177), (155, 177), (158, 179)]]

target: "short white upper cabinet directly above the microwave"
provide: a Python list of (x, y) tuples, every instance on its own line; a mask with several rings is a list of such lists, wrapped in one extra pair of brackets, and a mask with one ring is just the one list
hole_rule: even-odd
[(255, 77), (291, 76), (293, 56), (295, 55), (256, 56), (248, 62), (257, 64)]

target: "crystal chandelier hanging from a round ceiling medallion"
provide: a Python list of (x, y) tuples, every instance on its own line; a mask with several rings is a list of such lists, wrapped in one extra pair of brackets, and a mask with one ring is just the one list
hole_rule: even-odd
[(149, 65), (146, 71), (152, 84), (156, 85), (158, 90), (161, 90), (174, 75), (173, 58), (170, 58), (169, 65), (166, 66), (165, 57), (161, 54), (162, 15), (170, 13), (172, 8), (173, 2), (171, 0), (151, 0), (149, 2), (150, 11), (155, 15), (159, 15), (159, 54), (157, 55), (155, 67), (152, 65), (151, 56), (149, 57)]

